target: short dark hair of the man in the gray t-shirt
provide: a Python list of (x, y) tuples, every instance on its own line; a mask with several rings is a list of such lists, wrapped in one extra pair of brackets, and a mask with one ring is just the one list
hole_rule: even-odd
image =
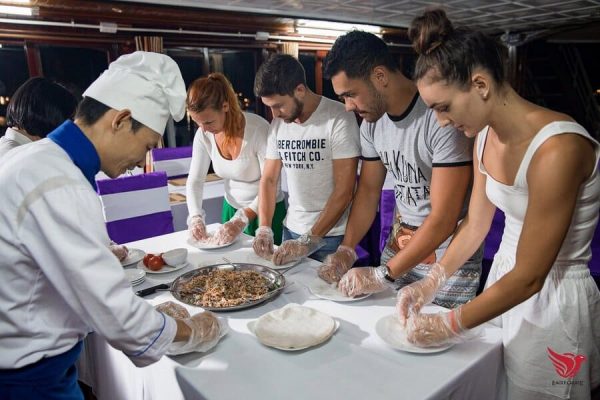
[(333, 44), (323, 62), (323, 76), (331, 79), (344, 71), (350, 79), (367, 80), (380, 65), (390, 71), (400, 70), (383, 40), (369, 32), (350, 31)]

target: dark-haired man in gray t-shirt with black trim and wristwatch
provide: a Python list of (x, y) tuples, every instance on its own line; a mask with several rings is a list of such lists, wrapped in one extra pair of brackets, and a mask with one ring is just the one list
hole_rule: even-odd
[[(423, 278), (440, 259), (466, 212), (472, 176), (472, 141), (448, 123), (442, 127), (385, 43), (353, 31), (338, 38), (324, 75), (363, 119), (362, 165), (344, 240), (319, 270), (348, 296)], [(352, 268), (354, 248), (369, 230), (386, 174), (394, 178), (396, 213), (379, 267)], [(435, 302), (456, 307), (479, 285), (481, 251), (449, 278)]]

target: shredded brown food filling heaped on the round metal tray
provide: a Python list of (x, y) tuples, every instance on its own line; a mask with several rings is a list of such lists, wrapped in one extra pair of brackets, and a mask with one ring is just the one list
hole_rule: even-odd
[(188, 304), (225, 308), (259, 300), (269, 291), (269, 280), (254, 271), (214, 270), (184, 282), (179, 291)]

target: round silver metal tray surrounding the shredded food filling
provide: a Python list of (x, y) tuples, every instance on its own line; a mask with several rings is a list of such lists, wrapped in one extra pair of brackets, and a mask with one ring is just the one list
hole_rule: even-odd
[[(261, 297), (260, 299), (252, 300), (252, 301), (249, 301), (246, 303), (238, 304), (235, 306), (229, 306), (229, 307), (204, 307), (204, 306), (192, 303), (192, 302), (188, 302), (186, 300), (185, 296), (183, 296), (181, 294), (182, 285), (198, 275), (208, 274), (209, 272), (214, 271), (214, 270), (258, 272), (259, 274), (261, 274), (262, 276), (267, 278), (267, 280), (269, 281), (269, 291), (267, 293), (265, 293), (265, 295), (263, 297)], [(175, 279), (175, 281), (171, 285), (171, 293), (177, 300), (179, 300), (183, 303), (192, 305), (192, 306), (202, 307), (205, 310), (235, 311), (235, 310), (242, 310), (244, 308), (254, 307), (258, 304), (264, 303), (267, 300), (277, 297), (283, 291), (284, 286), (285, 286), (285, 277), (281, 273), (275, 271), (274, 269), (265, 267), (264, 265), (249, 264), (249, 263), (234, 263), (234, 264), (225, 263), (225, 264), (214, 264), (214, 265), (209, 265), (206, 267), (200, 267), (200, 268), (197, 268), (193, 271), (187, 272), (187, 273), (179, 276), (177, 279)]]

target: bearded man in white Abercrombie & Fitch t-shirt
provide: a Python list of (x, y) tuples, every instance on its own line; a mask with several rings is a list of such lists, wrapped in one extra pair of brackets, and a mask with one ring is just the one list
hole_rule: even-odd
[[(322, 260), (346, 229), (360, 155), (356, 118), (343, 104), (313, 93), (304, 68), (289, 55), (273, 55), (261, 65), (254, 92), (273, 113), (254, 251), (277, 265), (308, 255)], [(274, 251), (270, 221), (282, 168), (289, 205), (284, 242)]]

